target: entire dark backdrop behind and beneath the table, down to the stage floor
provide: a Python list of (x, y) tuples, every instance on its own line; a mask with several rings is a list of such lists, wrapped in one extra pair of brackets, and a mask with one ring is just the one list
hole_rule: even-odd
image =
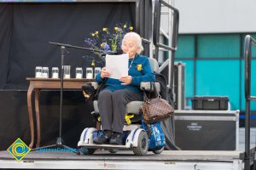
[[(0, 3), (0, 150), (6, 150), (18, 137), (30, 143), (26, 77), (34, 77), (36, 66), (48, 66), (49, 70), (59, 66), (60, 70), (61, 49), (49, 42), (84, 47), (84, 37), (102, 27), (125, 22), (134, 26), (135, 8), (135, 3), (124, 2)], [(96, 55), (67, 48), (64, 63), (71, 65), (74, 77), (75, 68), (85, 71), (92, 57)], [(76, 147), (84, 127), (96, 124), (90, 116), (92, 104), (84, 101), (80, 91), (64, 91), (63, 107), (62, 136), (65, 144)], [(42, 145), (55, 144), (59, 112), (59, 90), (41, 91)]]

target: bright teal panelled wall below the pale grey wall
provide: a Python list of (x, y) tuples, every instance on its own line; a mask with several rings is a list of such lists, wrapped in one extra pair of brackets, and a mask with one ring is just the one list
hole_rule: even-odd
[[(256, 33), (250, 33), (256, 39)], [(175, 61), (186, 65), (187, 105), (195, 95), (229, 96), (232, 110), (245, 110), (243, 44), (246, 34), (179, 35)], [(256, 96), (256, 47), (252, 48), (252, 95)], [(256, 111), (256, 102), (251, 104)]]

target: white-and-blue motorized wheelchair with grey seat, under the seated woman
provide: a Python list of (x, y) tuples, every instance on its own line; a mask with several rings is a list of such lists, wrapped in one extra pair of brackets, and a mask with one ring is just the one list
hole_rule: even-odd
[[(159, 72), (159, 65), (156, 59), (149, 58), (151, 69), (154, 72)], [(93, 83), (94, 88), (98, 88), (96, 83)], [(160, 92), (160, 84), (155, 82), (155, 87), (158, 92)], [(140, 88), (149, 92), (152, 90), (150, 88), (150, 82), (142, 82)], [(131, 101), (126, 105), (125, 111), (125, 126), (123, 129), (123, 145), (113, 145), (113, 144), (94, 144), (93, 138), (100, 135), (102, 130), (100, 126), (86, 127), (81, 133), (78, 147), (81, 154), (90, 155), (93, 154), (96, 149), (106, 149), (111, 153), (115, 153), (117, 150), (133, 150), (135, 155), (146, 155), (148, 152), (148, 135), (151, 136), (150, 132), (146, 132), (145, 128), (142, 127), (142, 115), (140, 114), (140, 108), (143, 105), (143, 101)], [(93, 101), (94, 111), (93, 114), (98, 114), (97, 100)], [(124, 121), (125, 121), (124, 120)], [(130, 124), (130, 122), (132, 122)], [(145, 124), (144, 124), (145, 125)], [(164, 135), (163, 133), (161, 135)], [(156, 147), (153, 151), (155, 154), (160, 154), (164, 150), (165, 141), (161, 141), (163, 145)]]

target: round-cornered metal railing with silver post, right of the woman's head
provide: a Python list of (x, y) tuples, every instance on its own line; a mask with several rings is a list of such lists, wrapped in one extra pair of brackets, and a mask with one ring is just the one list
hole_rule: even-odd
[[(169, 10), (172, 11), (172, 44), (163, 44), (160, 43), (160, 12), (161, 6), (164, 5)], [(155, 46), (155, 59), (158, 59), (159, 48), (165, 48), (171, 52), (169, 54), (169, 59), (163, 65), (169, 64), (169, 72), (168, 72), (168, 87), (172, 92), (173, 85), (173, 68), (174, 68), (174, 54), (177, 50), (177, 34), (178, 34), (178, 23), (179, 23), (179, 12), (177, 8), (172, 7), (169, 3), (166, 3), (163, 0), (155, 0), (154, 1), (154, 29), (153, 29), (153, 42)], [(171, 32), (169, 32), (169, 37), (171, 36)], [(164, 68), (164, 66), (160, 66), (160, 71)], [(172, 94), (172, 93), (171, 93)], [(173, 97), (173, 96), (172, 96)]]

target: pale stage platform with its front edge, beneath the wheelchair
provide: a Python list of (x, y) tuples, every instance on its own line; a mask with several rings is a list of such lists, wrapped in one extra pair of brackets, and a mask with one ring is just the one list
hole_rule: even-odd
[(94, 155), (79, 156), (72, 152), (31, 151), (18, 162), (7, 151), (0, 151), (0, 168), (21, 169), (204, 169), (241, 170), (241, 151), (164, 150), (155, 155), (134, 156), (130, 150), (111, 154), (97, 150)]

